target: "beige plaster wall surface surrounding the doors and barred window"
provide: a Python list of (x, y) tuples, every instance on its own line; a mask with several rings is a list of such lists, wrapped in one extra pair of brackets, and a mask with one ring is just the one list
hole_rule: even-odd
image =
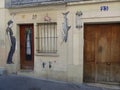
[[(108, 11), (100, 11), (101, 6), (108, 6)], [(104, 2), (104, 3), (74, 3), (57, 6), (47, 7), (34, 7), (34, 8), (21, 8), (6, 10), (6, 22), (10, 18), (14, 19), (14, 33), (17, 38), (16, 54), (14, 56), (15, 65), (12, 68), (14, 70), (20, 70), (20, 42), (19, 42), (19, 24), (33, 23), (36, 37), (36, 25), (37, 23), (44, 22), (44, 17), (48, 14), (51, 17), (52, 22), (57, 22), (58, 29), (58, 53), (55, 55), (41, 56), (35, 51), (35, 65), (34, 76), (63, 80), (75, 83), (83, 82), (83, 53), (84, 53), (84, 24), (85, 23), (109, 23), (120, 21), (120, 2)], [(70, 11), (68, 14), (69, 25), (71, 29), (69, 31), (68, 42), (62, 42), (61, 30), (63, 23), (63, 12)], [(83, 27), (81, 29), (76, 28), (75, 14), (77, 11), (82, 11), (83, 15), (81, 21)], [(16, 15), (10, 16), (10, 13), (16, 13)], [(32, 15), (36, 14), (37, 18), (32, 19)], [(35, 39), (34, 37), (34, 39)], [(7, 46), (8, 47), (8, 46)], [(35, 40), (36, 48), (36, 40)], [(36, 49), (35, 49), (36, 50)], [(52, 68), (48, 68), (49, 61), (52, 62)], [(42, 63), (45, 62), (47, 67), (42, 68)]]

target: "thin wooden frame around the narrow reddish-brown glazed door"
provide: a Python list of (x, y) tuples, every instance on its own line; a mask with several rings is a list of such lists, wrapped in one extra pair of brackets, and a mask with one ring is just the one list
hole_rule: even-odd
[[(19, 68), (20, 68), (20, 70), (22, 70), (21, 69), (21, 53), (20, 53), (20, 51), (21, 51), (21, 49), (20, 49), (20, 26), (21, 25), (33, 25), (33, 50), (34, 50), (34, 23), (22, 23), (22, 24), (18, 24), (18, 28), (19, 28), (19, 60), (20, 60), (20, 65), (19, 65)], [(23, 69), (24, 70), (24, 69)], [(33, 69), (32, 70), (34, 70), (34, 53), (33, 53)]]

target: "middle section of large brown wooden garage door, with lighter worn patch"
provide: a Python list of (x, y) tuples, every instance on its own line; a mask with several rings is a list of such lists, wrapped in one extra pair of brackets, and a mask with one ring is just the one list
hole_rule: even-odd
[(109, 62), (111, 61), (111, 26), (99, 25), (95, 38), (96, 81), (105, 82), (109, 79)]

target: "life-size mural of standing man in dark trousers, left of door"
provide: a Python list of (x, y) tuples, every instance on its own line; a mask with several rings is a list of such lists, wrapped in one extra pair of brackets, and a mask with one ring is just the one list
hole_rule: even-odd
[(7, 64), (14, 64), (12, 61), (12, 57), (15, 52), (16, 38), (13, 36), (12, 26), (13, 26), (13, 21), (9, 20), (8, 27), (6, 29), (6, 33), (8, 35), (8, 39), (10, 41), (10, 51), (9, 51), (8, 57), (7, 57)]

